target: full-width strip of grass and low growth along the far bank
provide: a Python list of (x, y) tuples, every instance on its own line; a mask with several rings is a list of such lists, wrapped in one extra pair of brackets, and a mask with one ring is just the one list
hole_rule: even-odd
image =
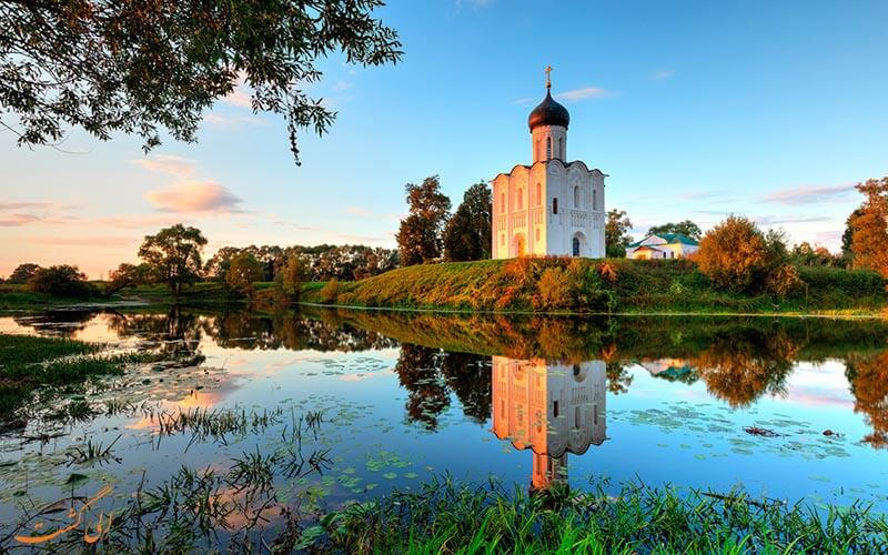
[[(360, 281), (307, 282), (303, 304), (353, 309), (496, 314), (765, 315), (888, 317), (886, 280), (877, 272), (798, 266), (799, 286), (784, 295), (739, 293), (713, 284), (685, 260), (524, 258), (400, 268)], [(201, 282), (176, 299), (163, 285), (128, 287), (93, 299), (56, 297), (0, 285), (0, 311), (113, 303), (205, 306), (248, 305), (275, 312), (275, 284), (258, 282), (250, 296), (218, 282)]]

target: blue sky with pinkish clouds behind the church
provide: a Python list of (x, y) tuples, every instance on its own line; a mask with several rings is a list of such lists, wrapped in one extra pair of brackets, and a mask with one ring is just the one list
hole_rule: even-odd
[(607, 208), (636, 233), (728, 213), (836, 250), (854, 183), (888, 175), (886, 2), (392, 1), (379, 11), (401, 63), (323, 60), (311, 87), (339, 111), (302, 134), (244, 94), (219, 102), (198, 144), (148, 157), (133, 138), (74, 131), (65, 154), (0, 133), (0, 274), (23, 261), (93, 276), (134, 261), (179, 221), (224, 244), (394, 246), (403, 186), (463, 191), (531, 157), (543, 69), (571, 111), (568, 158), (609, 174)]

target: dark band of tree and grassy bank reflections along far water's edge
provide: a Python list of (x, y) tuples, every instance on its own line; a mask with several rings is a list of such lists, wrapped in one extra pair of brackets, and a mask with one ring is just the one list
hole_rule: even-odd
[[(16, 317), (41, 333), (71, 336), (95, 313), (49, 313)], [(610, 319), (576, 320), (541, 315), (442, 315), (373, 311), (307, 311), (256, 316), (249, 311), (198, 315), (175, 307), (163, 314), (105, 312), (121, 337), (149, 340), (171, 356), (199, 354), (210, 337), (220, 346), (243, 350), (357, 352), (401, 346), (395, 366), (407, 391), (406, 418), (428, 430), (455, 395), (463, 413), (484, 424), (495, 404), (492, 356), (546, 361), (572, 369), (598, 361), (612, 394), (629, 393), (633, 367), (656, 377), (692, 384), (739, 407), (763, 395), (783, 395), (799, 362), (846, 363), (855, 410), (867, 416), (866, 441), (888, 445), (888, 323), (825, 319)], [(656, 371), (652, 370), (656, 369)], [(597, 374), (596, 374), (597, 375)], [(495, 417), (495, 415), (494, 415)]]

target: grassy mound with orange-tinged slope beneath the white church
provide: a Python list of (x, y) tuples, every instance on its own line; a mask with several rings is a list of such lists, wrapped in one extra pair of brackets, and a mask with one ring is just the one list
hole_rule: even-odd
[(807, 286), (777, 299), (720, 290), (682, 260), (488, 260), (402, 268), (342, 282), (335, 295), (313, 283), (303, 301), (494, 312), (869, 315), (888, 303), (885, 280), (874, 272), (804, 268), (800, 274)]

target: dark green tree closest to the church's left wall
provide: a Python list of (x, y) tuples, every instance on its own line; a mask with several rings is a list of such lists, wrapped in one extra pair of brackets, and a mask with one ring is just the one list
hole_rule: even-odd
[(483, 181), (466, 190), (463, 202), (444, 229), (444, 260), (491, 258), (491, 210), (493, 196)]

